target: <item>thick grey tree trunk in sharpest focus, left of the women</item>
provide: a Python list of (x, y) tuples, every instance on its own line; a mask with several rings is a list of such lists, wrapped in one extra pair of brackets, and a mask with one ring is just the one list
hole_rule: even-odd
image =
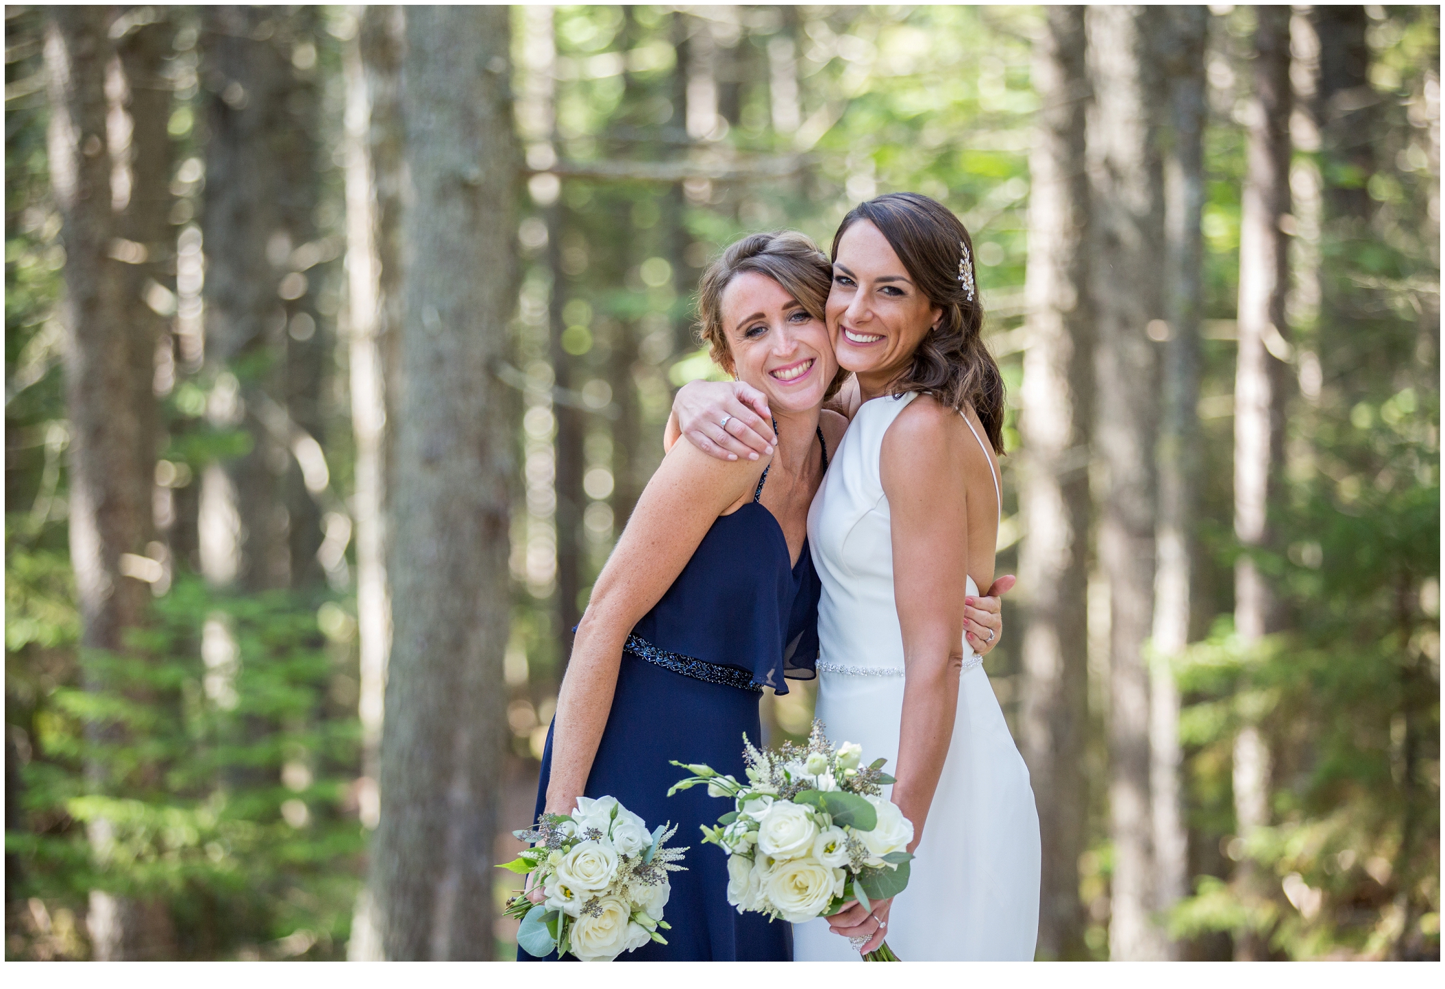
[(509, 16), (406, 12), (394, 634), (371, 859), (389, 959), (493, 951), (514, 420), (496, 378), (516, 305)]

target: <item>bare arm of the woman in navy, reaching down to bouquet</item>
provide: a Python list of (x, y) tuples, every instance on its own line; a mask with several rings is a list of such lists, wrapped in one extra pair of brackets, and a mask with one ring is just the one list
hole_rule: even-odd
[(623, 642), (657, 604), (717, 517), (751, 491), (762, 465), (715, 461), (681, 443), (652, 475), (592, 588), (556, 700), (548, 813), (571, 813), (607, 728)]

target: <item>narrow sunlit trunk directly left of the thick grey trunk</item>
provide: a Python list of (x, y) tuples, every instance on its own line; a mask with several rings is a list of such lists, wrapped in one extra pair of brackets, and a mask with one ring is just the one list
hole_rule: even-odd
[[(392, 606), (386, 580), (389, 377), (400, 325), (402, 52), (397, 6), (354, 9), (357, 33), (344, 51), (347, 87), (347, 286), (351, 429), (355, 435), (357, 631), (361, 689), (361, 824), (380, 819), (381, 716)], [(394, 385), (393, 385), (394, 387)], [(373, 895), (364, 889), (347, 956), (381, 957)]]

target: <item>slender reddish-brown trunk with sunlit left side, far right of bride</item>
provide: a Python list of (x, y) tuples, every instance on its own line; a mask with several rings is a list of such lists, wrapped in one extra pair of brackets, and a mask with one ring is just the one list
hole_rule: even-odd
[[(1289, 344), (1283, 334), (1289, 290), (1289, 7), (1256, 9), (1253, 97), (1240, 214), (1238, 357), (1234, 377), (1234, 627), (1248, 645), (1279, 628), (1279, 605), (1253, 553), (1270, 547), (1269, 505), (1279, 485), (1285, 448), (1283, 394)], [(1234, 810), (1248, 842), (1269, 823), (1270, 755), (1260, 728), (1246, 723), (1234, 744)], [(1257, 884), (1248, 858), (1240, 862), (1244, 895)], [(1235, 957), (1267, 957), (1250, 931)]]

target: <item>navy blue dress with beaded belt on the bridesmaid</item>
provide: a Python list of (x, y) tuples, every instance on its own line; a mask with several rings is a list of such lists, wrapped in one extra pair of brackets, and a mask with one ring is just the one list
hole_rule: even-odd
[[(751, 502), (712, 523), (682, 573), (627, 637), (584, 796), (617, 797), (649, 827), (678, 824), (669, 846), (689, 852), (681, 862), (686, 872), (670, 876), (665, 920), (672, 930), (662, 931), (668, 944), (649, 943), (618, 962), (793, 957), (790, 924), (738, 914), (727, 902), (727, 856), (701, 840), (701, 827), (715, 824), (730, 810), (727, 801), (708, 797), (705, 787), (666, 796), (668, 787), (688, 775), (670, 759), (705, 762), (741, 780), (743, 733), (762, 744), (757, 702), (763, 686), (788, 693), (788, 679), (816, 676), (818, 573), (806, 541), (792, 566), (782, 526), (759, 502), (766, 479), (764, 471)], [(536, 814), (546, 806), (555, 729), (553, 720), (542, 754)], [(536, 959), (519, 947), (517, 960)]]

